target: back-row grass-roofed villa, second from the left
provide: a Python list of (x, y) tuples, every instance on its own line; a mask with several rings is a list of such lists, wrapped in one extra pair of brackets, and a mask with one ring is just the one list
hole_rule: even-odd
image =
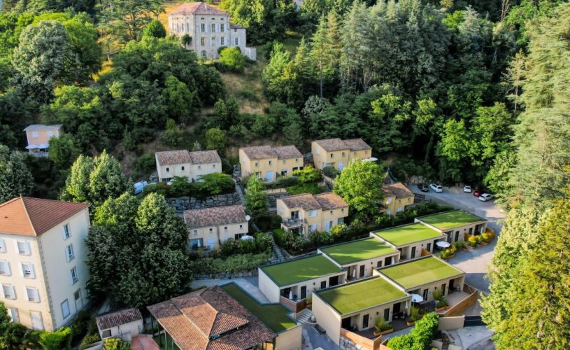
[(374, 269), (398, 262), (400, 255), (395, 248), (373, 237), (325, 246), (318, 251), (346, 269), (348, 280), (372, 276)]

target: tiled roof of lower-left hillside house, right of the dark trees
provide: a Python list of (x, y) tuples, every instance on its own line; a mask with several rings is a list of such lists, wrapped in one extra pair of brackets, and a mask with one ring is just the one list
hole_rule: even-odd
[(245, 223), (245, 210), (242, 205), (204, 208), (184, 211), (184, 221), (188, 228)]

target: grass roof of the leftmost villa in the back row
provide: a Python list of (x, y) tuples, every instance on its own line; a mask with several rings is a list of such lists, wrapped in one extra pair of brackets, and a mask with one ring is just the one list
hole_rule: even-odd
[(334, 265), (331, 260), (323, 255), (315, 255), (310, 258), (290, 260), (262, 267), (262, 271), (273, 279), (278, 286), (288, 286), (327, 274), (343, 272), (343, 269)]

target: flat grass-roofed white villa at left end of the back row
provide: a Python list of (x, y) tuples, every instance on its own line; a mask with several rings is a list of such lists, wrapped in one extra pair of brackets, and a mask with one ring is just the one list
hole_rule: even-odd
[(322, 254), (259, 267), (259, 289), (270, 302), (303, 300), (313, 291), (344, 283), (346, 272)]

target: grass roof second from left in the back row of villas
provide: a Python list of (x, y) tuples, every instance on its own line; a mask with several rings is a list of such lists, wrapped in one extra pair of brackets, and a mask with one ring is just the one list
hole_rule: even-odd
[(339, 263), (339, 265), (346, 265), (352, 262), (396, 253), (396, 249), (373, 237), (343, 244), (336, 244), (335, 246), (322, 248), (321, 251), (329, 255), (332, 260)]

